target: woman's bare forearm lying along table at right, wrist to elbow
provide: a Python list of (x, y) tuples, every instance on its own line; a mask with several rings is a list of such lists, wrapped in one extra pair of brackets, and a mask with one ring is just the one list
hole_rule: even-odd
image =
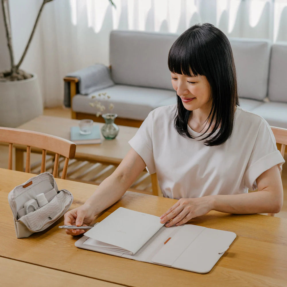
[(283, 196), (267, 190), (236, 195), (211, 195), (212, 210), (233, 214), (278, 213)]

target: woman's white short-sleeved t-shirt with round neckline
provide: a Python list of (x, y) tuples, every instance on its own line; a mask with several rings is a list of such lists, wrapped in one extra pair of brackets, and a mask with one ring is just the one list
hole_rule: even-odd
[(176, 108), (174, 104), (150, 112), (129, 141), (149, 172), (157, 173), (164, 197), (247, 193), (257, 188), (256, 179), (264, 171), (275, 165), (282, 170), (284, 159), (262, 117), (237, 106), (230, 138), (220, 146), (205, 146), (177, 133)]

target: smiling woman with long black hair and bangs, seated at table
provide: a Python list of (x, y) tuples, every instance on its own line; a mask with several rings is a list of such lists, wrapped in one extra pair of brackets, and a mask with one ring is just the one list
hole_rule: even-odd
[[(145, 167), (157, 172), (165, 197), (179, 199), (160, 217), (166, 226), (211, 210), (281, 210), (284, 159), (267, 122), (238, 106), (227, 37), (211, 24), (194, 25), (172, 45), (168, 66), (177, 105), (148, 115), (115, 172), (84, 205), (65, 214), (65, 225), (90, 224), (122, 197)], [(84, 230), (66, 232), (78, 235)]]

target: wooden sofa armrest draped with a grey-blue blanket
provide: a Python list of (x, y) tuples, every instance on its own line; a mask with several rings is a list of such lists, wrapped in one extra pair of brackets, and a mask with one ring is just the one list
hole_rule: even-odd
[[(115, 84), (110, 77), (109, 68), (103, 64), (95, 64), (69, 73), (64, 77), (64, 82), (64, 105), (66, 107), (71, 106), (72, 97), (76, 93), (88, 95)], [(73, 88), (72, 85), (74, 85)]]

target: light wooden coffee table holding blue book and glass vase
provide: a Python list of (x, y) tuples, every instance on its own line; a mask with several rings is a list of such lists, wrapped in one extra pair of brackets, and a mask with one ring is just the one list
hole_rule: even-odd
[[(42, 115), (20, 125), (18, 128), (56, 135), (70, 140), (70, 128), (77, 126), (78, 123), (79, 120)], [(99, 125), (100, 128), (104, 125), (103, 123), (94, 124)], [(107, 140), (102, 137), (103, 140), (101, 144), (77, 145), (75, 159), (118, 166), (131, 148), (128, 141), (135, 135), (137, 130), (138, 128), (136, 127), (119, 126), (119, 134), (113, 140)], [(23, 171), (25, 151), (26, 147), (17, 146), (15, 148), (16, 170)], [(42, 153), (41, 150), (33, 148), (31, 151)], [(151, 181), (152, 194), (158, 195), (159, 188), (156, 174), (151, 174)]]

